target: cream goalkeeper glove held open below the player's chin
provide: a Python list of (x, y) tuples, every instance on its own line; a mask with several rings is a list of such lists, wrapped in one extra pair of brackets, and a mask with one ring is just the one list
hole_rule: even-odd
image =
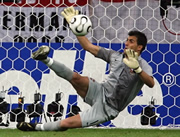
[(133, 69), (136, 73), (141, 73), (142, 69), (139, 66), (138, 62), (138, 53), (132, 49), (126, 49), (125, 53), (127, 57), (123, 58), (124, 64), (126, 64), (129, 68)]

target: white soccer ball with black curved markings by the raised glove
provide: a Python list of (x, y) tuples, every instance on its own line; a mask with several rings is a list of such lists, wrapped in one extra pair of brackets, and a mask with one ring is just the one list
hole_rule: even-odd
[(92, 23), (86, 15), (76, 15), (71, 19), (69, 27), (76, 36), (85, 36), (92, 29)]

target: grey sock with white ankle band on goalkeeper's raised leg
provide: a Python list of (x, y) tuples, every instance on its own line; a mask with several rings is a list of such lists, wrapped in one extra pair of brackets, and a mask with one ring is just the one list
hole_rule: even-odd
[(64, 64), (59, 63), (52, 58), (47, 57), (47, 59), (42, 60), (50, 69), (52, 69), (58, 76), (70, 81), (73, 76), (73, 71), (66, 67)]

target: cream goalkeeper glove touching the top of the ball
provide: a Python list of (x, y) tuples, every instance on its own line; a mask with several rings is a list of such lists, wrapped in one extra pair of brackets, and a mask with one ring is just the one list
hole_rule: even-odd
[(68, 7), (64, 9), (64, 11), (61, 12), (61, 15), (66, 19), (68, 23), (70, 23), (71, 19), (78, 14), (79, 14), (79, 11), (75, 10), (73, 6)]

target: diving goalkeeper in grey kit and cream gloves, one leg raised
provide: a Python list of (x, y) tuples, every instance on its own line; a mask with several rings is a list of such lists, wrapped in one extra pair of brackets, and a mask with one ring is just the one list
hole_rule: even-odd
[[(69, 23), (78, 11), (73, 7), (64, 9), (62, 16)], [(66, 119), (34, 124), (21, 122), (17, 128), (23, 131), (64, 131), (113, 120), (136, 97), (142, 86), (154, 86), (152, 68), (139, 55), (147, 44), (146, 36), (139, 31), (130, 31), (123, 53), (99, 47), (90, 43), (85, 36), (77, 36), (82, 48), (110, 64), (110, 73), (102, 83), (73, 72), (62, 63), (48, 57), (50, 48), (41, 46), (32, 54), (52, 69), (59, 77), (69, 81), (84, 101), (91, 105), (79, 114)]]

